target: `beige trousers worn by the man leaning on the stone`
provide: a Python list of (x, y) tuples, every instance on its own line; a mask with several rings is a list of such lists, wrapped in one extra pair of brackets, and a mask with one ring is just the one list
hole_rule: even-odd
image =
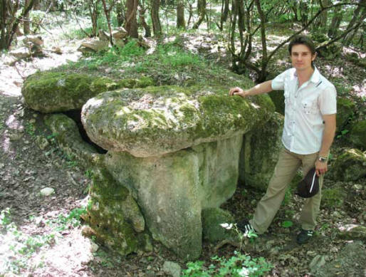
[[(249, 222), (251, 226), (258, 232), (264, 233), (271, 224), (278, 209), (281, 207), (286, 190), (296, 171), (300, 166), (303, 167), (305, 176), (308, 171), (315, 166), (318, 158), (318, 152), (309, 155), (299, 155), (283, 148), (280, 152), (278, 162), (274, 173), (268, 184), (267, 192), (258, 202), (253, 219)], [(320, 189), (318, 194), (305, 199), (303, 209), (300, 214), (301, 227), (305, 230), (313, 230), (316, 225), (316, 217), (318, 216), (321, 199), (321, 187), (323, 186), (323, 176), (319, 178)]]

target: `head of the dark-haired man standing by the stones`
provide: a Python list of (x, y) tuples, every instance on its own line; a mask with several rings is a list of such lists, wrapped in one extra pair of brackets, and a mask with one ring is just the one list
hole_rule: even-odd
[(288, 45), (288, 52), (296, 69), (301, 70), (308, 68), (308, 66), (314, 68), (315, 45), (307, 36), (295, 36)]

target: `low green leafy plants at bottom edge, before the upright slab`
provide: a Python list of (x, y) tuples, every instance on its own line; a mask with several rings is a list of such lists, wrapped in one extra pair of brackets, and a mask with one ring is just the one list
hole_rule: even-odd
[(234, 251), (234, 256), (224, 258), (213, 256), (213, 263), (208, 268), (203, 261), (187, 263), (187, 269), (183, 271), (183, 277), (201, 276), (263, 276), (271, 271), (273, 266), (265, 258), (251, 258), (249, 255)]

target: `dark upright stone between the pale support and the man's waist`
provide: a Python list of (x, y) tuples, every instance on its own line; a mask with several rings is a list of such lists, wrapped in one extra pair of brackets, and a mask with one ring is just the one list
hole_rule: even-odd
[(268, 122), (244, 135), (239, 179), (246, 185), (266, 191), (282, 147), (283, 115), (273, 114)]

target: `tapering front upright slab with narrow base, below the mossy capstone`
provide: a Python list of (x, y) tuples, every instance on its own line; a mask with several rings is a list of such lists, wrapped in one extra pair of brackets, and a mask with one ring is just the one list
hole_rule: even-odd
[(107, 167), (115, 179), (135, 194), (154, 239), (180, 258), (198, 258), (202, 251), (201, 195), (197, 155), (137, 158), (108, 152)]

